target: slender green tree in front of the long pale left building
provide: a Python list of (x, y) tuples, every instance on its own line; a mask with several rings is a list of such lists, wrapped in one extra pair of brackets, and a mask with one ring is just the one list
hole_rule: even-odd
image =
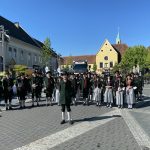
[(46, 38), (41, 50), (41, 58), (43, 65), (48, 65), (48, 62), (51, 58), (51, 54), (52, 54), (51, 41), (49, 38)]

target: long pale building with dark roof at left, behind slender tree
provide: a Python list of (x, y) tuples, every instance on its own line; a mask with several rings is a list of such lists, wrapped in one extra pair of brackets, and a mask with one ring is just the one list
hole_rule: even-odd
[[(2, 16), (0, 16), (0, 27), (0, 56), (3, 58), (4, 70), (15, 64), (26, 65), (30, 68), (42, 67), (42, 42), (32, 38), (18, 22), (13, 23)], [(57, 54), (53, 50), (51, 52), (49, 66), (52, 70), (56, 70)]]

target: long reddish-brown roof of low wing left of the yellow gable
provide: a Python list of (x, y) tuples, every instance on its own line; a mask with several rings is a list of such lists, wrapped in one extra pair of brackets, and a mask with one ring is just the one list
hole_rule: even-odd
[(96, 55), (83, 55), (83, 56), (67, 56), (63, 57), (63, 64), (67, 64), (68, 59), (73, 61), (87, 60), (88, 64), (94, 64), (96, 62)]

